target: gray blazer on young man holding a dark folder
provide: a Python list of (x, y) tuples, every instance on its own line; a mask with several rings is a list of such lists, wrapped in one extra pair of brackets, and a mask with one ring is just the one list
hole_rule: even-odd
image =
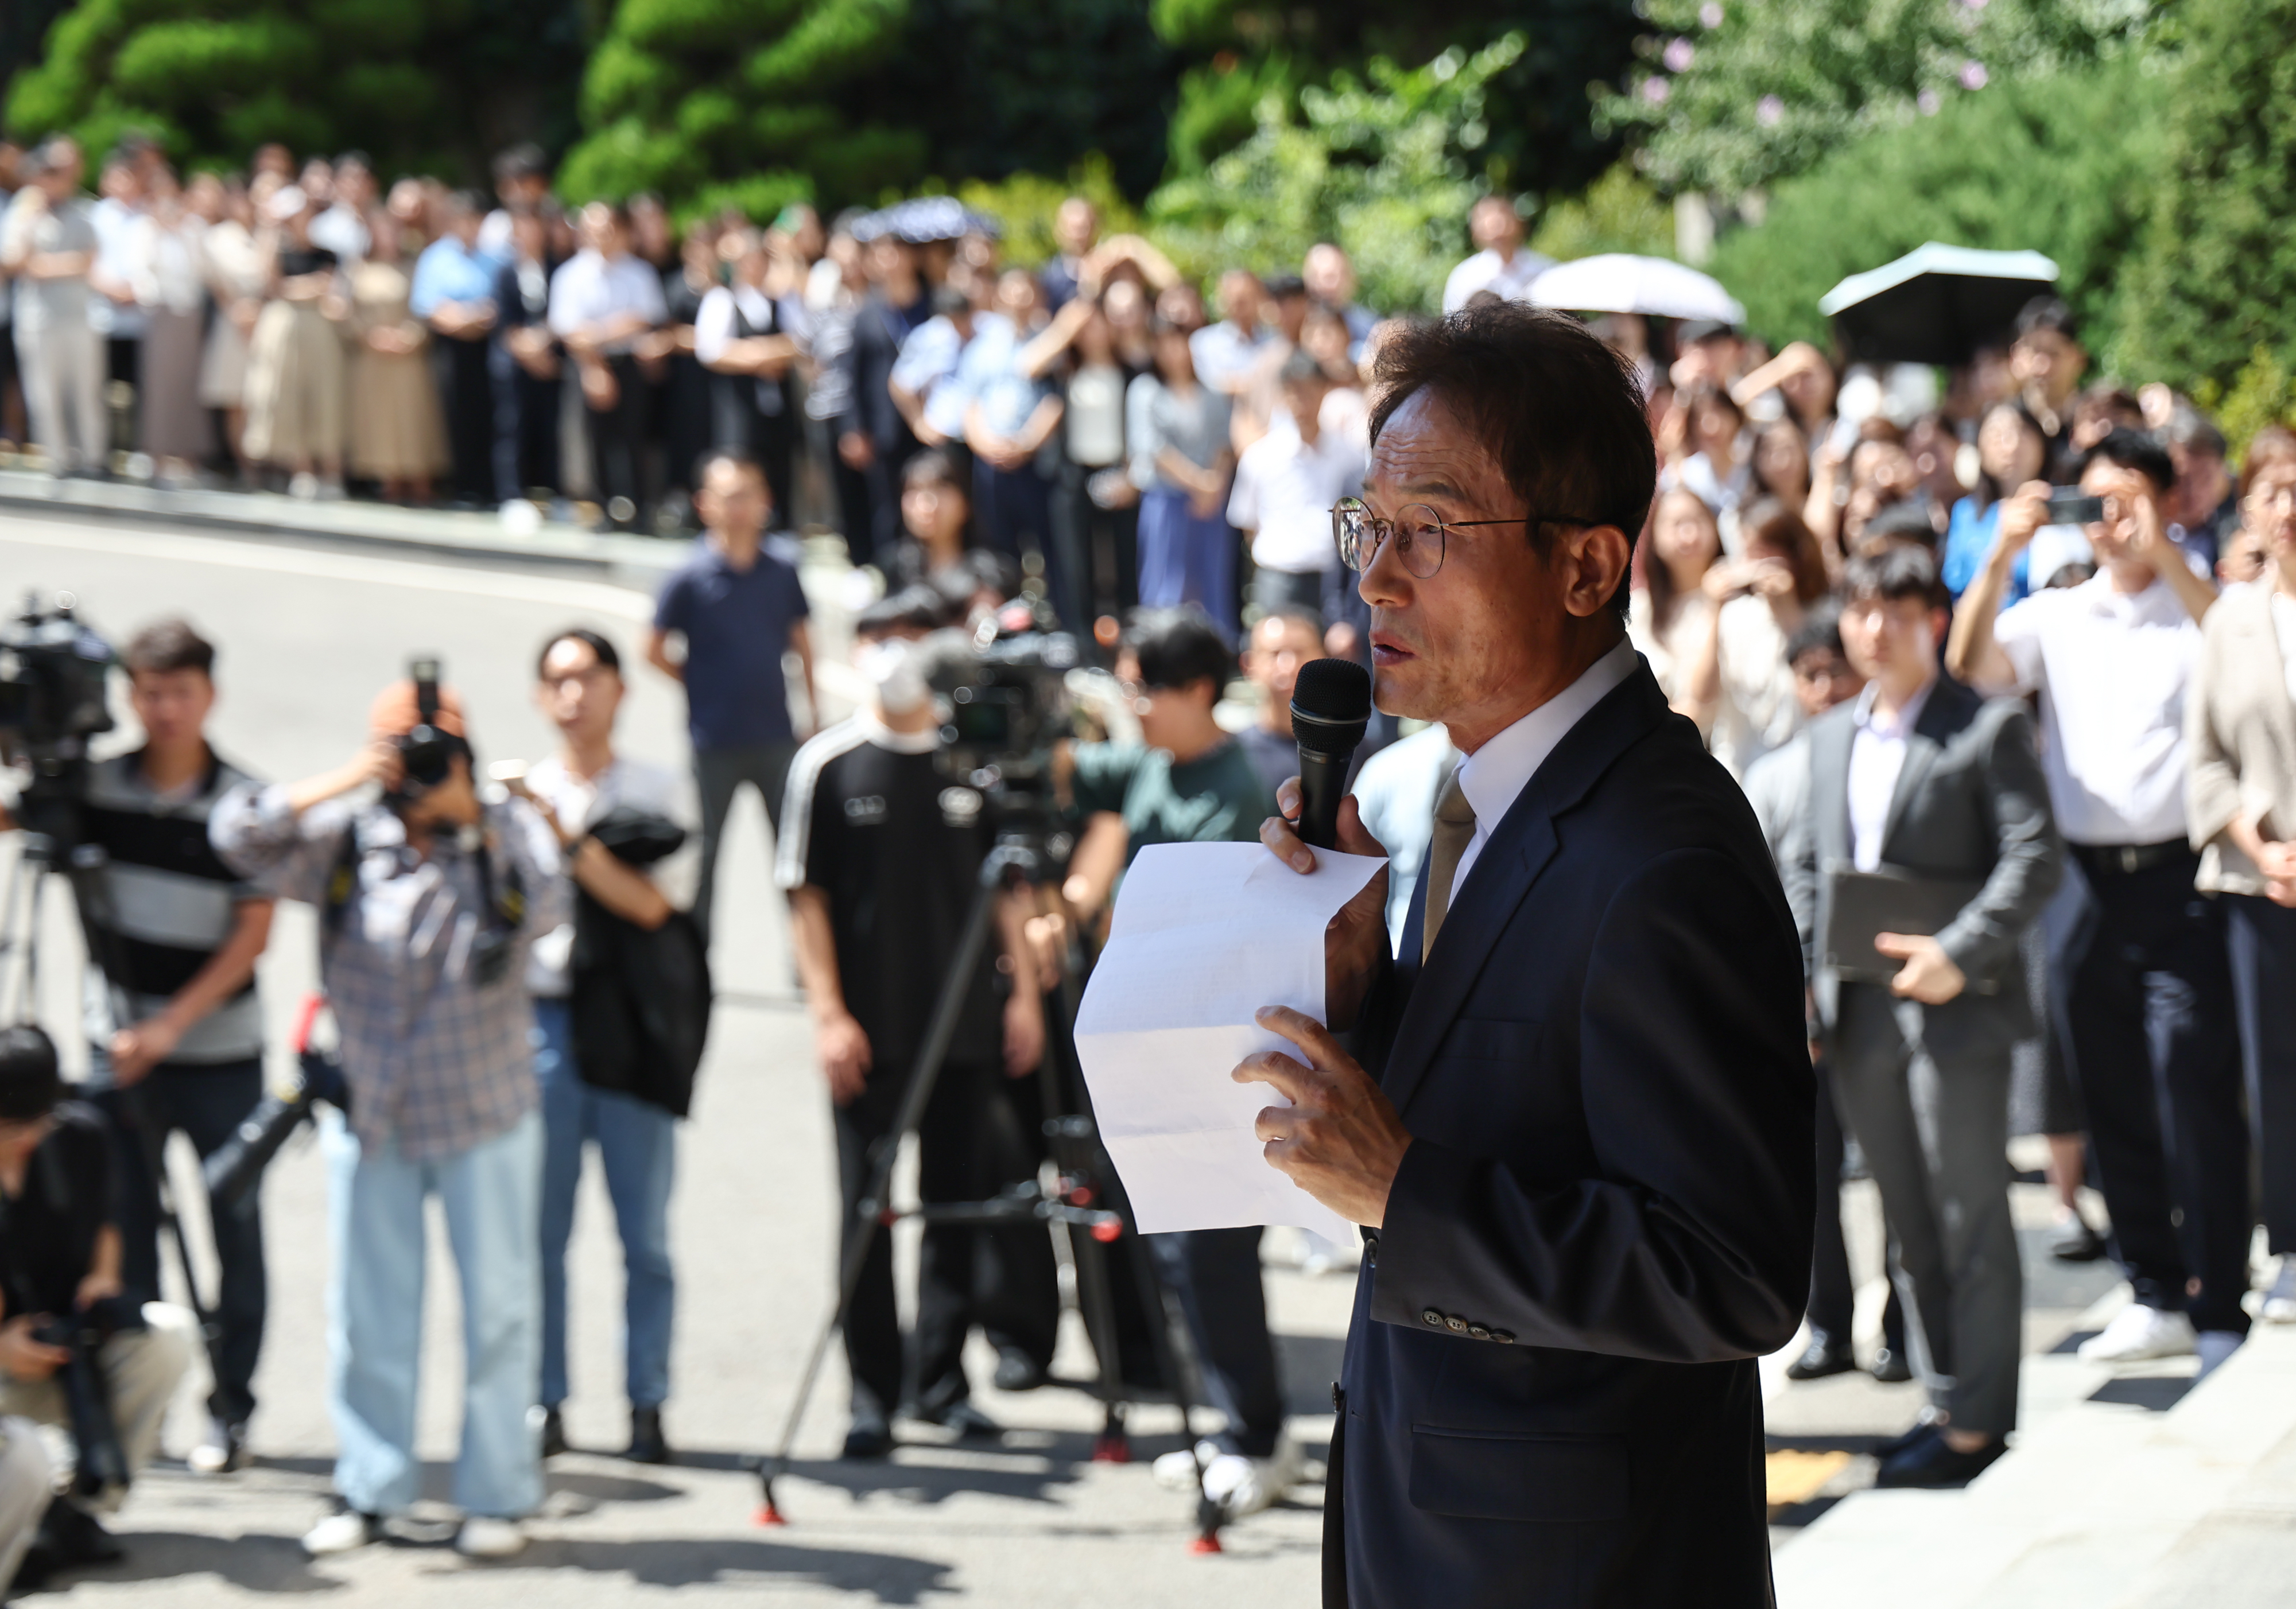
[[(1802, 930), (1802, 957), (1818, 1019), (1832, 1031), (1841, 980), (1816, 964), (1825, 932), (1825, 868), (1851, 863), (1851, 741), (1857, 705), (1837, 705), (1809, 723), (1809, 826), (1784, 868), (1786, 900)], [(1906, 739), (1906, 769), (1890, 796), (1883, 865), (1938, 879), (1984, 879), (1938, 943), (1968, 973), (1970, 989), (1922, 1008), (1922, 1040), (1945, 1060), (1998, 1051), (2037, 1031), (2018, 941), (2057, 891), (2064, 845), (2048, 813), (2048, 783), (2034, 751), (2032, 716), (2014, 698), (1981, 698), (1940, 677)], [(1975, 985), (1995, 985), (1979, 992)]]

